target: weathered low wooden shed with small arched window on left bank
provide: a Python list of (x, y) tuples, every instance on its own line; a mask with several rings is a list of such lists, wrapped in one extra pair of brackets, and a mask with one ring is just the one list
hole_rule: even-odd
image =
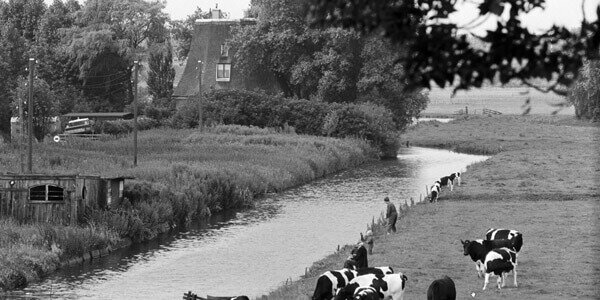
[(106, 209), (123, 197), (127, 177), (0, 175), (0, 216), (24, 222), (77, 224), (86, 209)]

